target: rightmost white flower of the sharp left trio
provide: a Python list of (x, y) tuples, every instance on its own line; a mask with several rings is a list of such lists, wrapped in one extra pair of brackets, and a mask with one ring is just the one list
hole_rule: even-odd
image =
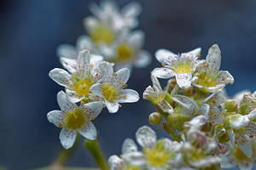
[(90, 87), (92, 94), (102, 97), (110, 113), (119, 110), (119, 103), (137, 102), (139, 94), (132, 89), (123, 89), (130, 76), (126, 68), (113, 72), (111, 63), (103, 61), (102, 69), (106, 71), (102, 83), (96, 83)]

